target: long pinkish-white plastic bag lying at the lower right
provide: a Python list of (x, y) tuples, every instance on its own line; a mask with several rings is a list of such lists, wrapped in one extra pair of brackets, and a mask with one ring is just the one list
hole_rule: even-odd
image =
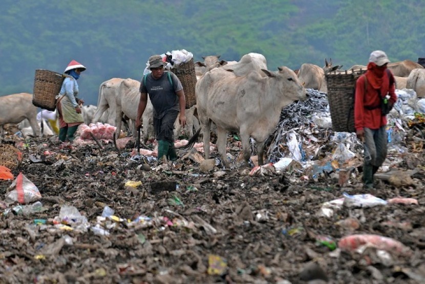
[(398, 253), (400, 255), (410, 255), (412, 251), (402, 243), (376, 234), (353, 234), (339, 240), (338, 247), (345, 251), (359, 251), (363, 248), (373, 247), (379, 250)]

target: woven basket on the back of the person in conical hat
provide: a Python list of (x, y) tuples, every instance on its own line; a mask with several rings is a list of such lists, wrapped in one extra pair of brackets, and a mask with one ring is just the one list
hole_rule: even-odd
[(60, 91), (63, 79), (64, 77), (59, 73), (36, 69), (32, 104), (47, 110), (55, 110), (56, 96)]

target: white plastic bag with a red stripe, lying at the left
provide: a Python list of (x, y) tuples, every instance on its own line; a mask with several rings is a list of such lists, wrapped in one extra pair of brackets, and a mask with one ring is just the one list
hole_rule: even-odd
[(20, 204), (28, 204), (41, 198), (37, 186), (32, 183), (22, 172), (18, 174), (16, 179), (9, 186), (5, 201), (8, 203), (19, 202)]

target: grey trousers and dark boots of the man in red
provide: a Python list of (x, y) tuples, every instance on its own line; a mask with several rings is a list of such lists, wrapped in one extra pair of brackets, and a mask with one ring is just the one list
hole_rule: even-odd
[(373, 187), (373, 175), (387, 157), (386, 126), (379, 129), (365, 128), (365, 162), (363, 165), (363, 183)]

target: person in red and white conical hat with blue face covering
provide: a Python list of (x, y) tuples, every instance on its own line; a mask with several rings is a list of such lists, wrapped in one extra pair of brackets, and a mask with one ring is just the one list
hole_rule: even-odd
[(59, 140), (73, 141), (75, 131), (80, 124), (84, 122), (80, 105), (83, 100), (78, 99), (78, 83), (81, 72), (86, 70), (86, 67), (81, 63), (72, 60), (65, 68), (62, 87), (57, 96), (57, 110), (59, 113)]

